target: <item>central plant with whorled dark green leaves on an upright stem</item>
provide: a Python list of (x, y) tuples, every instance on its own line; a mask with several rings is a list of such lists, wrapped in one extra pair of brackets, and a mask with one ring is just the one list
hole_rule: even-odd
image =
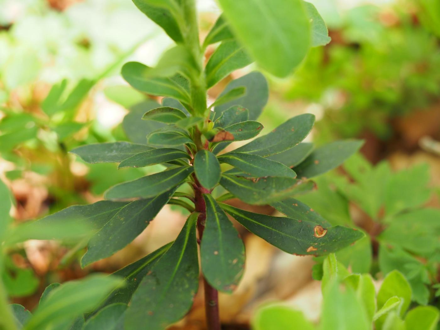
[[(133, 143), (95, 143), (72, 150), (92, 164), (120, 163), (119, 168), (161, 164), (165, 170), (111, 187), (104, 201), (71, 206), (18, 231), (20, 238), (34, 239), (77, 235), (78, 246), (88, 248), (81, 259), (85, 267), (127, 246), (165, 204), (191, 213), (174, 242), (114, 273), (125, 278), (126, 286), (110, 293), (100, 308), (91, 311), (88, 306), (86, 328), (93, 323), (90, 327), (96, 329), (95, 322), (106, 322), (108, 315), (117, 315), (117, 322), (124, 319), (127, 330), (165, 329), (181, 319), (198, 290), (199, 243), (207, 323), (209, 329), (220, 329), (218, 290), (235, 289), (245, 261), (243, 242), (226, 213), (289, 253), (326, 255), (363, 237), (352, 228), (331, 226), (292, 197), (311, 191), (315, 184), (308, 179), (340, 165), (361, 141), (338, 141), (312, 150), (311, 144), (301, 141), (315, 117), (303, 114), (219, 155), (231, 142), (252, 139), (262, 131), (256, 119), (268, 99), (267, 83), (261, 73), (249, 73), (228, 84), (211, 106), (207, 89), (254, 60), (269, 73), (286, 77), (310, 47), (329, 41), (322, 18), (307, 2), (259, 0), (259, 6), (250, 0), (219, 2), (224, 13), (200, 44), (194, 0), (134, 1), (176, 46), (165, 51), (154, 68), (126, 63), (122, 76), (139, 91), (165, 98), (162, 104), (140, 103), (124, 118), (122, 126)], [(216, 43), (220, 44), (204, 65), (206, 47)], [(231, 198), (270, 204), (288, 217), (223, 203)], [(17, 240), (9, 235), (5, 244)], [(84, 294), (81, 288), (75, 290)], [(64, 306), (68, 304), (65, 301)], [(25, 329), (39, 329), (38, 313), (37, 309), (26, 321)], [(53, 319), (52, 325), (58, 325)]]

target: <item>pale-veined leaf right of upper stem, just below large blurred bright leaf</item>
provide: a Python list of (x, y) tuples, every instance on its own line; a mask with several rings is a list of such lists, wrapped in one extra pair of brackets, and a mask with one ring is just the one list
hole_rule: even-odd
[(206, 63), (206, 87), (214, 86), (232, 71), (252, 62), (252, 59), (237, 41), (226, 40), (222, 42)]

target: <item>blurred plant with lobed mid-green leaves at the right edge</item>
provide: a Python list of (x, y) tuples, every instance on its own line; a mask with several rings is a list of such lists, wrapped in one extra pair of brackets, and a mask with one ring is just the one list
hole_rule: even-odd
[[(429, 167), (416, 165), (393, 173), (387, 161), (372, 166), (356, 154), (344, 169), (353, 181), (345, 176), (321, 177), (316, 180), (318, 191), (298, 198), (333, 225), (356, 225), (349, 204), (362, 210), (365, 219), (357, 225), (367, 236), (337, 252), (338, 260), (354, 272), (388, 274), (397, 269), (410, 282), (415, 301), (427, 304), (435, 299), (440, 210), (424, 207), (432, 195)], [(315, 270), (320, 278), (320, 265)]]

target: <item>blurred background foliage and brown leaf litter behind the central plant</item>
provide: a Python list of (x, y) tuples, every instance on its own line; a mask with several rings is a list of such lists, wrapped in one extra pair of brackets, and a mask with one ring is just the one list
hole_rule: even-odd
[[(269, 132), (309, 112), (318, 119), (309, 140), (365, 140), (362, 154), (320, 178), (318, 189), (301, 200), (330, 223), (367, 234), (337, 253), (349, 271), (370, 272), (380, 282), (397, 269), (410, 283), (413, 301), (438, 307), (440, 4), (311, 2), (332, 41), (312, 48), (291, 77), (268, 77), (269, 104), (260, 121)], [(0, 0), (0, 8), (0, 177), (16, 201), (15, 222), (95, 202), (115, 183), (157, 171), (89, 165), (68, 151), (136, 140), (130, 114), (145, 112), (145, 102), (158, 99), (125, 84), (120, 67), (128, 59), (153, 65), (171, 44), (165, 33), (129, 0)], [(210, 0), (200, 0), (199, 8), (203, 37), (219, 11)], [(253, 69), (233, 73), (223, 87)], [(220, 92), (213, 88), (209, 96)], [(254, 211), (274, 213), (270, 207)], [(7, 251), (2, 279), (9, 295), (31, 309), (52, 282), (111, 272), (142, 257), (175, 238), (184, 221), (176, 206), (158, 217), (169, 225), (152, 223), (126, 249), (85, 269), (78, 264), (81, 242), (27, 241)], [(220, 297), (224, 323), (246, 329), (255, 308), (273, 300), (318, 320), (322, 295), (312, 273), (322, 278), (323, 259), (287, 255), (239, 230), (246, 273), (232, 296)], [(176, 328), (201, 329), (203, 317), (197, 298)]]

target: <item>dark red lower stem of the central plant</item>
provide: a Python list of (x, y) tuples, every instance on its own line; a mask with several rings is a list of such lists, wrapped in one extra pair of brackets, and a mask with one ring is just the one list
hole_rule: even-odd
[[(203, 230), (205, 229), (206, 220), (206, 205), (205, 199), (203, 199), (202, 194), (210, 194), (211, 191), (203, 188), (194, 176), (196, 181), (196, 187), (194, 187), (195, 195), (195, 210), (200, 212), (197, 219), (197, 230), (199, 242), (202, 241)], [(218, 292), (212, 286), (209, 285), (205, 277), (203, 277), (204, 287), (205, 287), (205, 313), (206, 313), (206, 323), (208, 330), (220, 330), (220, 315), (219, 315), (219, 299)]]

